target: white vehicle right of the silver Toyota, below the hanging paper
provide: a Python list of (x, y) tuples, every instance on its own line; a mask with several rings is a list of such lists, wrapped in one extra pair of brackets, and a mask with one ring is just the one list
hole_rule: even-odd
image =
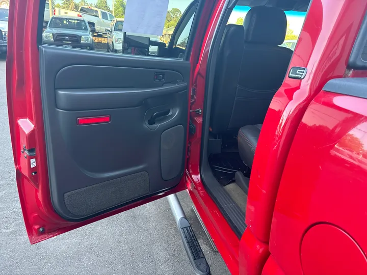
[[(123, 32), (123, 23), (123, 18), (114, 18), (109, 28), (106, 28), (108, 51), (122, 53), (124, 38), (126, 37), (126, 35), (134, 36), (136, 38), (145, 37), (149, 38), (150, 41), (160, 42), (158, 36), (156, 35), (143, 35)], [(149, 46), (148, 52), (149, 54), (156, 55), (158, 52), (158, 46)]]

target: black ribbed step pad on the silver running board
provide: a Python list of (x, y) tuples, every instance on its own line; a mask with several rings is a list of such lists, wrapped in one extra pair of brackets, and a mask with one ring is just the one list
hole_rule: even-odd
[(210, 274), (209, 265), (205, 259), (204, 253), (202, 252), (195, 233), (186, 217), (181, 217), (177, 226), (183, 246), (185, 246), (186, 253), (195, 272), (198, 275)]

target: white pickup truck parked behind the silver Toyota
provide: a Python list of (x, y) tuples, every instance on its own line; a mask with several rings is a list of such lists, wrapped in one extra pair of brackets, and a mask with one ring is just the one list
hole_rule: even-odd
[(95, 33), (99, 34), (106, 34), (106, 28), (110, 26), (111, 21), (115, 18), (115, 16), (108, 11), (89, 6), (81, 6), (77, 12), (55, 8), (54, 14), (84, 17), (89, 26), (93, 26), (95, 28)]

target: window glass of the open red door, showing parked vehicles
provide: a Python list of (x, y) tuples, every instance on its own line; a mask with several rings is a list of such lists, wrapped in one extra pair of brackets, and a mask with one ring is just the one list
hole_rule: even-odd
[[(102, 1), (103, 5), (99, 0), (74, 1), (75, 5), (55, 0), (52, 3), (56, 7), (50, 6), (49, 9), (58, 8), (58, 15), (52, 17), (48, 26), (44, 26), (42, 43), (117, 54), (183, 58), (198, 0), (169, 0), (167, 10), (163, 11), (165, 16), (165, 20), (162, 21), (163, 31), (154, 35), (150, 34), (149, 30), (146, 30), (146, 33), (124, 32), (125, 11), (128, 10), (126, 7), (129, 1), (139, 0), (115, 1), (113, 9), (110, 0), (107, 3)], [(82, 3), (88, 6), (82, 6)], [(46, 7), (47, 5), (48, 2)], [(142, 7), (142, 12), (149, 11), (149, 9), (143, 10)], [(154, 18), (154, 9), (151, 9), (151, 12), (151, 18)], [(85, 17), (80, 17), (81, 14)], [(1, 15), (0, 11), (0, 17)], [(88, 25), (90, 28), (93, 27), (93, 32)], [(111, 33), (108, 33), (106, 28), (110, 28)]]

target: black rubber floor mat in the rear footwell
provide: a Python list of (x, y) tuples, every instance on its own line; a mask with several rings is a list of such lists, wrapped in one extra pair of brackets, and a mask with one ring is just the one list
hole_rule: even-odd
[(241, 171), (250, 176), (250, 169), (243, 163), (239, 152), (224, 152), (209, 156), (209, 165), (215, 178), (223, 186), (234, 181), (234, 174)]

